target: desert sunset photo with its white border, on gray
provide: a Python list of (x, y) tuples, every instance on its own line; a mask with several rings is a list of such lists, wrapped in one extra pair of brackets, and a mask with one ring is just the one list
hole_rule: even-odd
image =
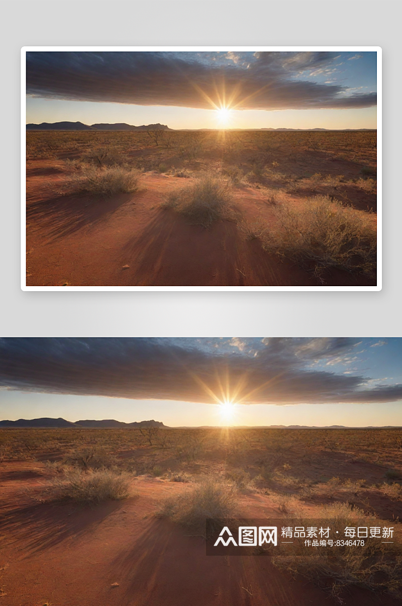
[(381, 48), (21, 59), (22, 290), (381, 290)]

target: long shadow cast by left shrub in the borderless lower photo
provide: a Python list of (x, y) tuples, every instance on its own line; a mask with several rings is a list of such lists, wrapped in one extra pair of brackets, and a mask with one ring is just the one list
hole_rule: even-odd
[(95, 530), (119, 507), (121, 503), (116, 501), (96, 508), (51, 503), (25, 505), (1, 515), (0, 532), (12, 536), (12, 542), (24, 542), (28, 557), (65, 539)]

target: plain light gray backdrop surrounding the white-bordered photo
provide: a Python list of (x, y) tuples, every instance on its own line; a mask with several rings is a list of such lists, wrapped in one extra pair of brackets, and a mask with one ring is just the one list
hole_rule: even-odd
[[(2, 1), (2, 336), (402, 336), (399, 1)], [(22, 292), (19, 61), (30, 45), (383, 48), (383, 290)]]

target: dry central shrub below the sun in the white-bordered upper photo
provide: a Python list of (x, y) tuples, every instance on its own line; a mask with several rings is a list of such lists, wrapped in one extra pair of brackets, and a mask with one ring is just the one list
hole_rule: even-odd
[(192, 224), (208, 228), (218, 219), (234, 219), (231, 202), (228, 182), (205, 173), (194, 184), (173, 191), (162, 208), (173, 208), (191, 219)]

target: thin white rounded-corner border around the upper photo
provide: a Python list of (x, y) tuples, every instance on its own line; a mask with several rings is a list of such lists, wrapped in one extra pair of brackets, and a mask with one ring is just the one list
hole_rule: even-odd
[[(377, 53), (377, 285), (375, 286), (27, 286), (27, 52), (375, 52)], [(380, 291), (382, 288), (382, 49), (378, 46), (25, 46), (21, 48), (21, 290), (23, 291)]]

